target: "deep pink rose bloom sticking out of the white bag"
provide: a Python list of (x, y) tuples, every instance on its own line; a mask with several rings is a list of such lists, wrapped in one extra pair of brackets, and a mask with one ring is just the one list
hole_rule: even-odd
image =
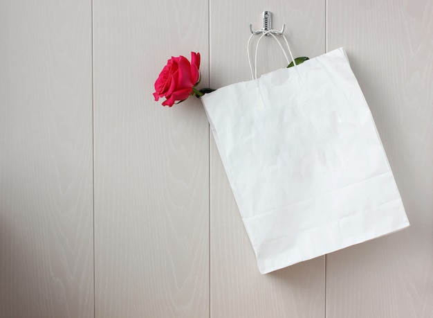
[(155, 82), (155, 100), (165, 97), (164, 106), (187, 99), (200, 79), (200, 53), (191, 52), (191, 63), (184, 56), (172, 57)]

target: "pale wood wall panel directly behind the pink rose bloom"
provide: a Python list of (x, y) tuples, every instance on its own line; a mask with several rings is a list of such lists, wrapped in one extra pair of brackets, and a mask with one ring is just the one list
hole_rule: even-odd
[(94, 1), (95, 316), (209, 316), (209, 130), (201, 103), (163, 107), (171, 56), (202, 55), (208, 4)]

